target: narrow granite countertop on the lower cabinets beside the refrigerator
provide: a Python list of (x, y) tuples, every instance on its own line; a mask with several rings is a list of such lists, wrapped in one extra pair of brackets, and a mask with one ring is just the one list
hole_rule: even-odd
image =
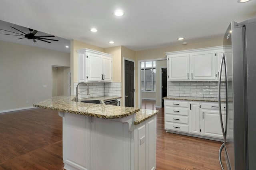
[[(206, 102), (218, 102), (218, 98), (213, 97), (183, 97), (183, 96), (167, 96), (163, 99), (170, 100), (186, 100), (186, 101), (206, 101)], [(220, 98), (221, 102), (226, 102), (225, 98)]]

